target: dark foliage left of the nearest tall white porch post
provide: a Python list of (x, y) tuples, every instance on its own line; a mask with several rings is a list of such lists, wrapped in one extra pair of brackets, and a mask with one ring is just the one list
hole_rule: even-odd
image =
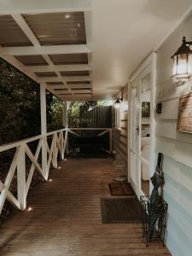
[(0, 59), (0, 144), (39, 132), (39, 85)]

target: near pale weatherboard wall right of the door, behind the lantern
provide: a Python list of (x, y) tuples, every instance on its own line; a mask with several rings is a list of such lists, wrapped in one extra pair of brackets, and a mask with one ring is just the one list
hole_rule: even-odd
[(166, 245), (174, 256), (192, 255), (192, 134), (177, 132), (179, 96), (191, 92), (192, 83), (172, 83), (171, 55), (183, 36), (192, 41), (192, 15), (157, 50), (157, 96), (162, 113), (156, 115), (155, 153), (162, 152), (164, 198), (168, 203)]

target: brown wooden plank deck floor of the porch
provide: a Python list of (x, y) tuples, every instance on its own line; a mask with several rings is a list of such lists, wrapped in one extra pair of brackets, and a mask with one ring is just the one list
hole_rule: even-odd
[(1, 227), (0, 255), (168, 255), (149, 247), (140, 224), (102, 224), (100, 197), (109, 196), (112, 160), (67, 160), (28, 197), (31, 212), (18, 212)]

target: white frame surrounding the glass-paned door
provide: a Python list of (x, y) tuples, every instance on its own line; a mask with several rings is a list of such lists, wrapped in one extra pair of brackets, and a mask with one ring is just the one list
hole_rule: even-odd
[[(155, 96), (156, 96), (156, 53), (153, 52), (152, 54), (148, 55), (148, 57), (145, 59), (145, 61), (142, 62), (142, 64), (137, 68), (136, 72), (134, 72), (128, 82), (128, 92), (129, 92), (129, 104), (131, 104), (131, 82), (134, 79), (137, 79), (139, 75), (141, 75), (144, 70), (148, 68), (150, 75), (151, 75), (151, 81), (150, 81), (150, 177), (153, 176), (154, 170), (155, 170)], [(143, 191), (141, 189), (141, 185), (138, 187), (138, 184), (134, 183), (131, 180), (131, 108), (129, 108), (128, 111), (128, 137), (127, 137), (127, 143), (128, 143), (128, 155), (127, 155), (127, 166), (128, 166), (128, 181), (131, 183), (131, 186), (135, 190), (137, 197), (139, 198), (141, 195), (143, 195)], [(141, 125), (140, 125), (141, 126)], [(140, 127), (140, 134), (141, 134), (141, 127)], [(149, 183), (149, 193), (152, 191), (152, 184)]]

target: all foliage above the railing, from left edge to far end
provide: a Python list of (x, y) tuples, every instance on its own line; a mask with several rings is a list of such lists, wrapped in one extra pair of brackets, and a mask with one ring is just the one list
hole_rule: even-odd
[[(46, 101), (47, 130), (61, 129), (63, 102), (49, 91), (46, 94)], [(79, 122), (81, 113), (98, 105), (108, 106), (108, 101), (70, 102), (69, 125), (77, 127), (84, 125)], [(40, 134), (40, 114), (39, 84), (7, 61), (0, 59), (0, 144), (12, 143)]]

